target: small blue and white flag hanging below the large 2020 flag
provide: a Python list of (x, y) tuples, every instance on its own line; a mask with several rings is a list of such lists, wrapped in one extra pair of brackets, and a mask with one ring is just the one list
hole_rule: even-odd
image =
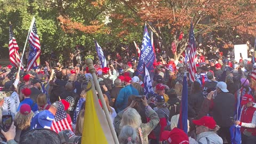
[(150, 74), (148, 72), (147, 67), (144, 66), (144, 77), (143, 77), (143, 82), (144, 82), (144, 93), (147, 95), (150, 92), (154, 92)]

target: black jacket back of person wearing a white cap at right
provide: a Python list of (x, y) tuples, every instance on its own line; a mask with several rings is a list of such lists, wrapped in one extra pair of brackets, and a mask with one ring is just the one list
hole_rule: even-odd
[(220, 127), (229, 127), (233, 124), (230, 117), (235, 114), (235, 97), (231, 93), (219, 93), (213, 99), (213, 118)]

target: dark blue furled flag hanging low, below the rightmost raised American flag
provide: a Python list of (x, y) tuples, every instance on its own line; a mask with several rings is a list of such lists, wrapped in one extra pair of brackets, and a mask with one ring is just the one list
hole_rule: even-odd
[(183, 78), (183, 89), (178, 128), (183, 130), (185, 133), (188, 133), (188, 82), (186, 73), (184, 74)]

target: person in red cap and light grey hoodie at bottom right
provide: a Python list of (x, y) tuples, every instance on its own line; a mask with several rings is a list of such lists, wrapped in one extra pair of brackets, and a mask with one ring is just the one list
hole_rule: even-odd
[(222, 144), (223, 140), (217, 134), (220, 127), (216, 124), (213, 117), (203, 116), (198, 120), (192, 121), (196, 125), (197, 142)]

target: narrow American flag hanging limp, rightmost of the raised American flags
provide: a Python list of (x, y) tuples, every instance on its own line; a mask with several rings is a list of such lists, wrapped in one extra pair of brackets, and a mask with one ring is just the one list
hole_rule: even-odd
[(196, 43), (193, 29), (193, 23), (191, 22), (189, 30), (188, 48), (187, 48), (188, 60), (189, 60), (189, 80), (195, 82), (196, 74)]

